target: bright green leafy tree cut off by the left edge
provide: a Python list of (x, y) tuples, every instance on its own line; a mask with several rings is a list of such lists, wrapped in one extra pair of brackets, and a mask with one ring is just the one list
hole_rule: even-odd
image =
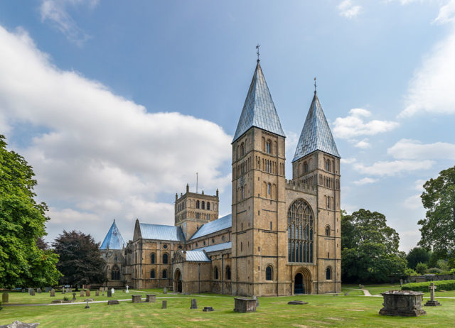
[(37, 241), (45, 236), (45, 203), (37, 203), (33, 170), (26, 160), (6, 149), (0, 135), (0, 287), (55, 285), (58, 256)]

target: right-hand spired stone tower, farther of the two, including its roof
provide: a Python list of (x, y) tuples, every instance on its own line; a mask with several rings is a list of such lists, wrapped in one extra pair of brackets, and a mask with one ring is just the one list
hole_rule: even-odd
[[(316, 186), (315, 256), (319, 284), (323, 290), (341, 290), (340, 154), (319, 103), (316, 91), (292, 160), (292, 180)], [(327, 270), (331, 270), (330, 275)], [(331, 279), (326, 279), (331, 276)]]

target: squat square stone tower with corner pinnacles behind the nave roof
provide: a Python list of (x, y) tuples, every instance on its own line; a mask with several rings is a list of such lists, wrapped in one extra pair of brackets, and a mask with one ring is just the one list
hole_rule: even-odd
[(178, 197), (176, 194), (175, 225), (181, 226), (185, 239), (188, 240), (203, 224), (218, 219), (218, 189), (216, 195), (205, 195), (190, 192), (186, 185), (186, 193)]

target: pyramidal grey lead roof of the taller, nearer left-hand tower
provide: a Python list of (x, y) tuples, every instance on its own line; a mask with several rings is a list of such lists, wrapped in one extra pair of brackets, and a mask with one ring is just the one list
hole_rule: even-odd
[(267, 87), (267, 82), (265, 82), (259, 60), (232, 142), (235, 142), (252, 126), (284, 136), (282, 124), (279, 122), (277, 109), (275, 109), (272, 95), (269, 87)]

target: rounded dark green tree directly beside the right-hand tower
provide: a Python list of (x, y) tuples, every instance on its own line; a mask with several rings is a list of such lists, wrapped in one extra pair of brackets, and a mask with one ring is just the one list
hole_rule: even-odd
[(403, 274), (405, 254), (398, 251), (400, 236), (387, 226), (385, 216), (359, 209), (341, 215), (341, 273), (343, 281), (382, 283), (388, 275)]

